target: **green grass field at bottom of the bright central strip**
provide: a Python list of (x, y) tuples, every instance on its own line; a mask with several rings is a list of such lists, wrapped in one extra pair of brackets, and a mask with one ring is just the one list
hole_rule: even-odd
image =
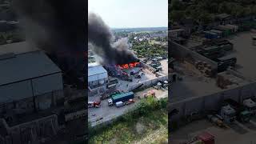
[[(89, 143), (167, 142), (168, 113), (166, 108), (156, 106), (157, 109), (155, 106), (156, 103), (150, 102), (146, 106), (142, 105), (140, 110), (131, 111), (108, 126), (91, 128)], [(153, 110), (153, 107), (156, 109)], [(144, 110), (143, 113), (140, 113), (141, 110)]]

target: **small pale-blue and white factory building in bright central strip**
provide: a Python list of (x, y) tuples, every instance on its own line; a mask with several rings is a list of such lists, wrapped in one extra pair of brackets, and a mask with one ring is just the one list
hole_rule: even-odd
[(106, 91), (106, 84), (108, 82), (108, 74), (103, 66), (98, 63), (88, 64), (88, 87), (89, 96), (102, 94)]

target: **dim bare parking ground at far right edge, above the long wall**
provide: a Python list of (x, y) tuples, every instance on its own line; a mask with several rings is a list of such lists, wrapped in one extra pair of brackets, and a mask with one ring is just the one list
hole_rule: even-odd
[(256, 80), (256, 67), (254, 66), (256, 46), (253, 45), (252, 37), (255, 35), (256, 33), (253, 32), (244, 32), (229, 38), (234, 44), (234, 56), (238, 59), (235, 70), (246, 78), (254, 80)]

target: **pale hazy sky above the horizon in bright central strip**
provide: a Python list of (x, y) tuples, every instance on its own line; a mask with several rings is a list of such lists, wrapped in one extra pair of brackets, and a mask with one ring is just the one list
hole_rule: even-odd
[(111, 28), (168, 25), (168, 0), (89, 0), (88, 6)]

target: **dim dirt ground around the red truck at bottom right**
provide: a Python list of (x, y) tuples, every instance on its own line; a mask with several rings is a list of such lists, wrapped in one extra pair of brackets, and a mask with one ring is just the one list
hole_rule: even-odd
[(213, 134), (215, 137), (215, 143), (217, 144), (254, 144), (256, 143), (256, 117), (246, 124), (235, 122), (230, 125), (230, 128), (228, 129), (222, 129), (218, 126), (214, 126), (205, 119), (195, 121), (180, 128), (172, 134), (169, 134), (170, 143), (178, 144), (180, 142), (186, 142), (203, 131)]

